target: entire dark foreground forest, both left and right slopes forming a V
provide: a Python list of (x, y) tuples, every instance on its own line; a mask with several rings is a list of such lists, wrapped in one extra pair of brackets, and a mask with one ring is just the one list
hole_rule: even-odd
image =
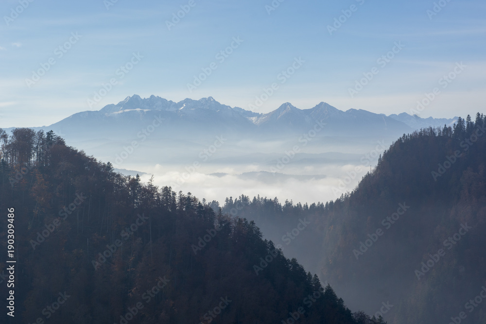
[[(16, 213), (17, 320), (384, 323), (351, 313), (336, 290), (370, 315), (393, 305), (388, 323), (449, 323), (461, 312), (486, 323), (484, 305), (469, 303), (486, 282), (485, 125), (478, 114), (401, 136), (335, 201), (242, 195), (222, 208), (116, 173), (52, 132), (0, 131), (0, 210)], [(0, 224), (6, 251), (5, 217)], [(46, 308), (60, 294), (65, 303)]]

